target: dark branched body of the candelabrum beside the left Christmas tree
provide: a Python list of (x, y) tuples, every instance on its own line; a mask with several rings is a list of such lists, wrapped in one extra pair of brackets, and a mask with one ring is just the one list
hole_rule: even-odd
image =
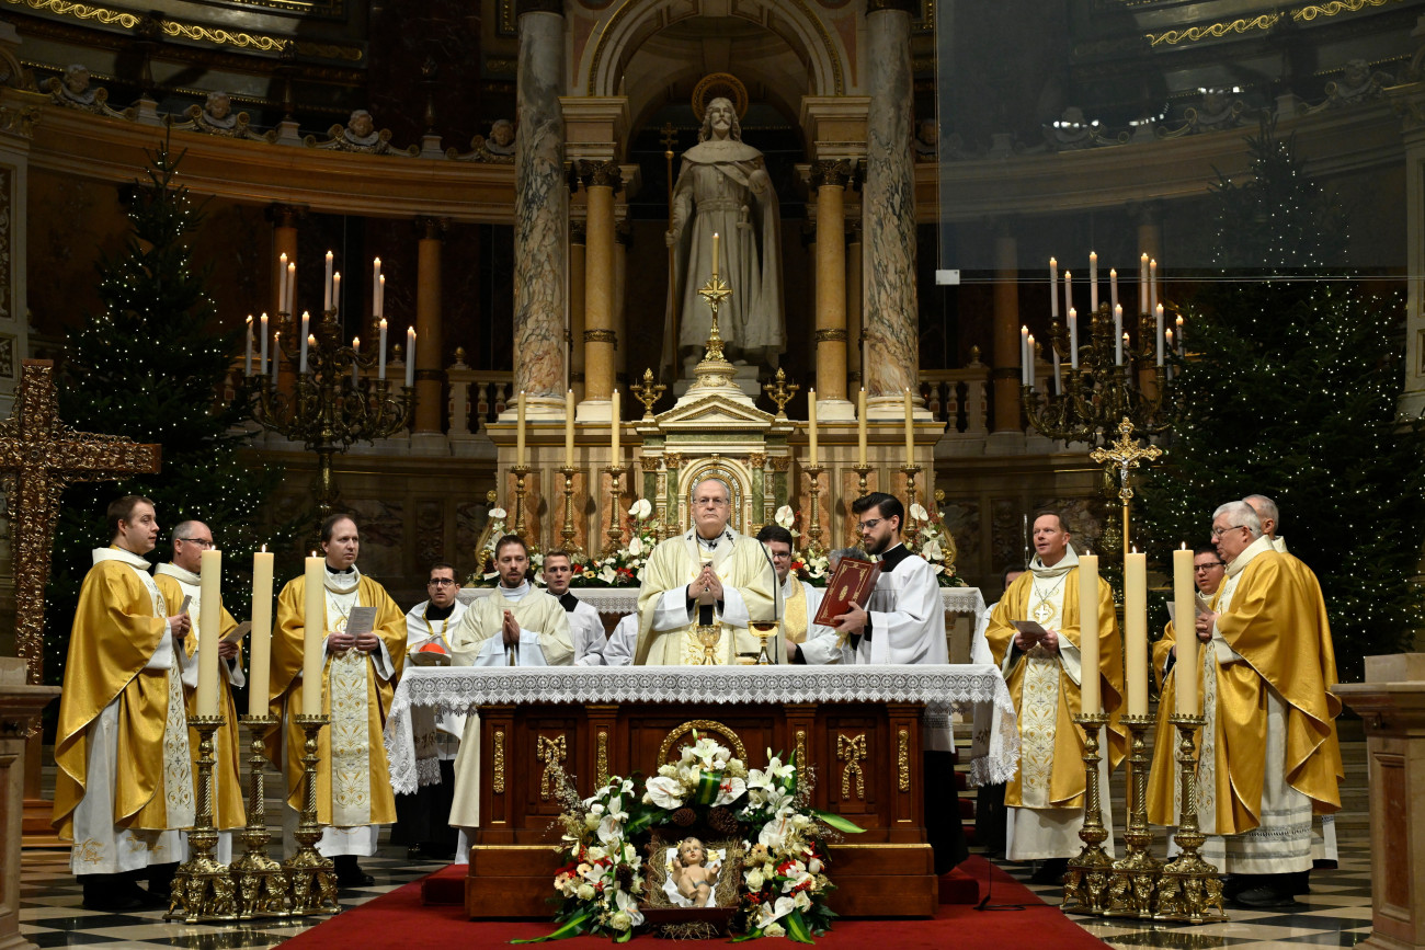
[[(372, 377), (368, 370), (385, 362), (379, 359), (379, 343), (358, 349), (342, 342), (335, 308), (306, 328), (292, 313), (278, 313), (276, 329), (286, 345), (274, 353), (274, 363), (285, 357), (295, 383), (291, 392), (284, 392), (275, 379), (248, 376), (248, 404), (262, 427), (316, 453), (316, 504), (325, 516), (338, 497), (332, 454), (353, 442), (386, 439), (409, 426), (416, 393), (410, 386)], [(304, 332), (312, 338), (306, 346), (306, 372), (301, 360)], [(380, 340), (378, 318), (372, 318), (368, 339)]]

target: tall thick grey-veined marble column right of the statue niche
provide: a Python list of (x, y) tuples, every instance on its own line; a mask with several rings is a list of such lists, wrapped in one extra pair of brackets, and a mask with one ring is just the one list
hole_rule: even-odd
[[(915, 295), (915, 168), (911, 158), (912, 0), (866, 7), (866, 396), (871, 414), (896, 416), (906, 389), (919, 392)], [(872, 409), (874, 407), (874, 409)]]

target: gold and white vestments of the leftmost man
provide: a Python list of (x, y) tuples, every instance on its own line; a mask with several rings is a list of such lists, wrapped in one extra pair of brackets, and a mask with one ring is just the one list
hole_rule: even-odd
[(54, 828), (74, 873), (182, 859), (194, 788), (181, 659), (148, 561), (97, 548), (64, 665), (54, 738)]

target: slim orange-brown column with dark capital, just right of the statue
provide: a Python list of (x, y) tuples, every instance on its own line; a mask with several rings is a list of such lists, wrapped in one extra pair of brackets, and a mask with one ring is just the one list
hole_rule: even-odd
[[(817, 189), (817, 410), (821, 419), (852, 419), (846, 400), (846, 182), (851, 162), (818, 161)], [(825, 410), (825, 412), (824, 412)]]

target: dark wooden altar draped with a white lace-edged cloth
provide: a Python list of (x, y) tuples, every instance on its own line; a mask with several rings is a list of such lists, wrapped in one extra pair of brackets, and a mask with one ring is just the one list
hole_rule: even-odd
[[(815, 771), (812, 806), (865, 832), (831, 847), (842, 916), (931, 916), (938, 904), (925, 837), (922, 725), (973, 719), (973, 785), (1005, 782), (1019, 761), (1015, 709), (990, 665), (620, 667), (408, 669), (386, 719), (392, 785), (430, 782), (412, 709), (480, 714), (480, 819), (470, 849), (472, 917), (549, 914), (559, 867), (557, 769), (581, 795), (610, 775), (650, 776), (708, 734), (748, 766), (795, 752)], [(953, 788), (945, 808), (958, 808)]]

